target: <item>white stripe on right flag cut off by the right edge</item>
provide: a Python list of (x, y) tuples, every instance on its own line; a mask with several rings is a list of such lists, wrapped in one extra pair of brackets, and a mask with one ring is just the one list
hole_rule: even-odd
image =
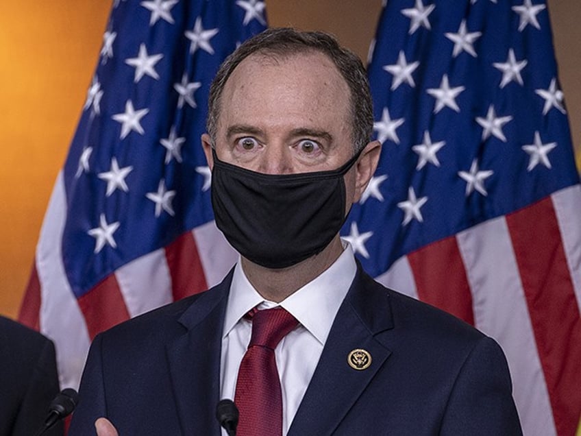
[(551, 195), (563, 240), (567, 266), (581, 312), (581, 185)]

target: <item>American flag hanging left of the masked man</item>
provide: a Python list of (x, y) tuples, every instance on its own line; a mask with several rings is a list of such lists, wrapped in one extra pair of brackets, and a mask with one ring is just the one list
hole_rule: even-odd
[(219, 64), (265, 28), (259, 0), (114, 1), (20, 314), (55, 341), (63, 387), (99, 331), (203, 291), (236, 261), (200, 136)]

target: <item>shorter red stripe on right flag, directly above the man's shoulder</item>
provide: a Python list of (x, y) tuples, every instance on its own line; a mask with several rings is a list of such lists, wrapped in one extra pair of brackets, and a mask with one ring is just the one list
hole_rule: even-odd
[(474, 325), (472, 294), (455, 237), (408, 254), (418, 298)]

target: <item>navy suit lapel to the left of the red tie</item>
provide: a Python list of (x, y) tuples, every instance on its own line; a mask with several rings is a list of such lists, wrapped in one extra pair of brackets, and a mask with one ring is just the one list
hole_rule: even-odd
[(184, 335), (166, 345), (175, 407), (184, 435), (220, 435), (221, 333), (231, 273), (202, 293), (180, 317)]

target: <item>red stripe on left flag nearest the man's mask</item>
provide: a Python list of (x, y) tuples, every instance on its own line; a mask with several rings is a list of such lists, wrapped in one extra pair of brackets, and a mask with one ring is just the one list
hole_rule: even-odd
[(165, 247), (173, 301), (208, 289), (196, 241), (192, 232), (186, 232)]

